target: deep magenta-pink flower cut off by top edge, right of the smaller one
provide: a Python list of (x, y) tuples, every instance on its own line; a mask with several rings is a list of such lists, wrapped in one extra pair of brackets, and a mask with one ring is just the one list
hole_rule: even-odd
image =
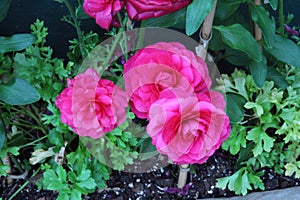
[(175, 12), (191, 2), (192, 0), (127, 0), (126, 9), (130, 19), (144, 20)]

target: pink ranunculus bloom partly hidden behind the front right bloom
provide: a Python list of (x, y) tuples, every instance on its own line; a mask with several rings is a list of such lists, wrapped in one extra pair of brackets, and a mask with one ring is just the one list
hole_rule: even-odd
[(211, 86), (205, 62), (177, 42), (139, 50), (125, 63), (124, 80), (131, 109), (139, 118), (148, 118), (151, 104), (164, 90), (187, 97), (209, 91)]

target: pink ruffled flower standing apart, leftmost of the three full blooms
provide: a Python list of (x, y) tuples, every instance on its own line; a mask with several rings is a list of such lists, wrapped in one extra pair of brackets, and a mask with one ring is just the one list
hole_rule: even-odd
[(128, 106), (127, 94), (109, 80), (88, 69), (68, 80), (68, 88), (56, 98), (61, 120), (78, 135), (99, 138), (122, 124)]

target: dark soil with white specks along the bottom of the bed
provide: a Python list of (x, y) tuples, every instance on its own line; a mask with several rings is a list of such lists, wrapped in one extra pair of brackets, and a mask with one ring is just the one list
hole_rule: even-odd
[[(231, 197), (234, 193), (216, 188), (216, 179), (233, 174), (236, 158), (227, 152), (218, 150), (205, 164), (193, 165), (187, 183), (191, 187), (186, 191), (171, 194), (177, 184), (179, 169), (176, 165), (160, 168), (154, 165), (148, 173), (126, 173), (113, 171), (107, 188), (84, 196), (84, 199), (196, 199), (212, 197)], [(300, 185), (300, 179), (284, 177), (272, 170), (265, 170), (262, 177), (266, 190), (282, 189)], [(0, 178), (0, 193), (3, 200), (8, 199), (25, 180), (16, 180), (8, 185), (4, 177)], [(169, 188), (167, 191), (166, 189)], [(175, 189), (176, 191), (176, 189)], [(179, 193), (178, 193), (179, 192)], [(180, 195), (181, 192), (181, 195)], [(186, 192), (186, 194), (184, 194)], [(31, 181), (14, 199), (56, 199), (53, 191), (39, 191)]]

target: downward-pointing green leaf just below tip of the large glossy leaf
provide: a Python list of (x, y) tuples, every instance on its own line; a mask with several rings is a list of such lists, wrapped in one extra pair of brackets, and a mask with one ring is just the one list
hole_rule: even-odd
[(267, 60), (265, 56), (263, 56), (263, 59), (260, 62), (251, 61), (249, 63), (249, 68), (255, 84), (262, 88), (268, 73)]

